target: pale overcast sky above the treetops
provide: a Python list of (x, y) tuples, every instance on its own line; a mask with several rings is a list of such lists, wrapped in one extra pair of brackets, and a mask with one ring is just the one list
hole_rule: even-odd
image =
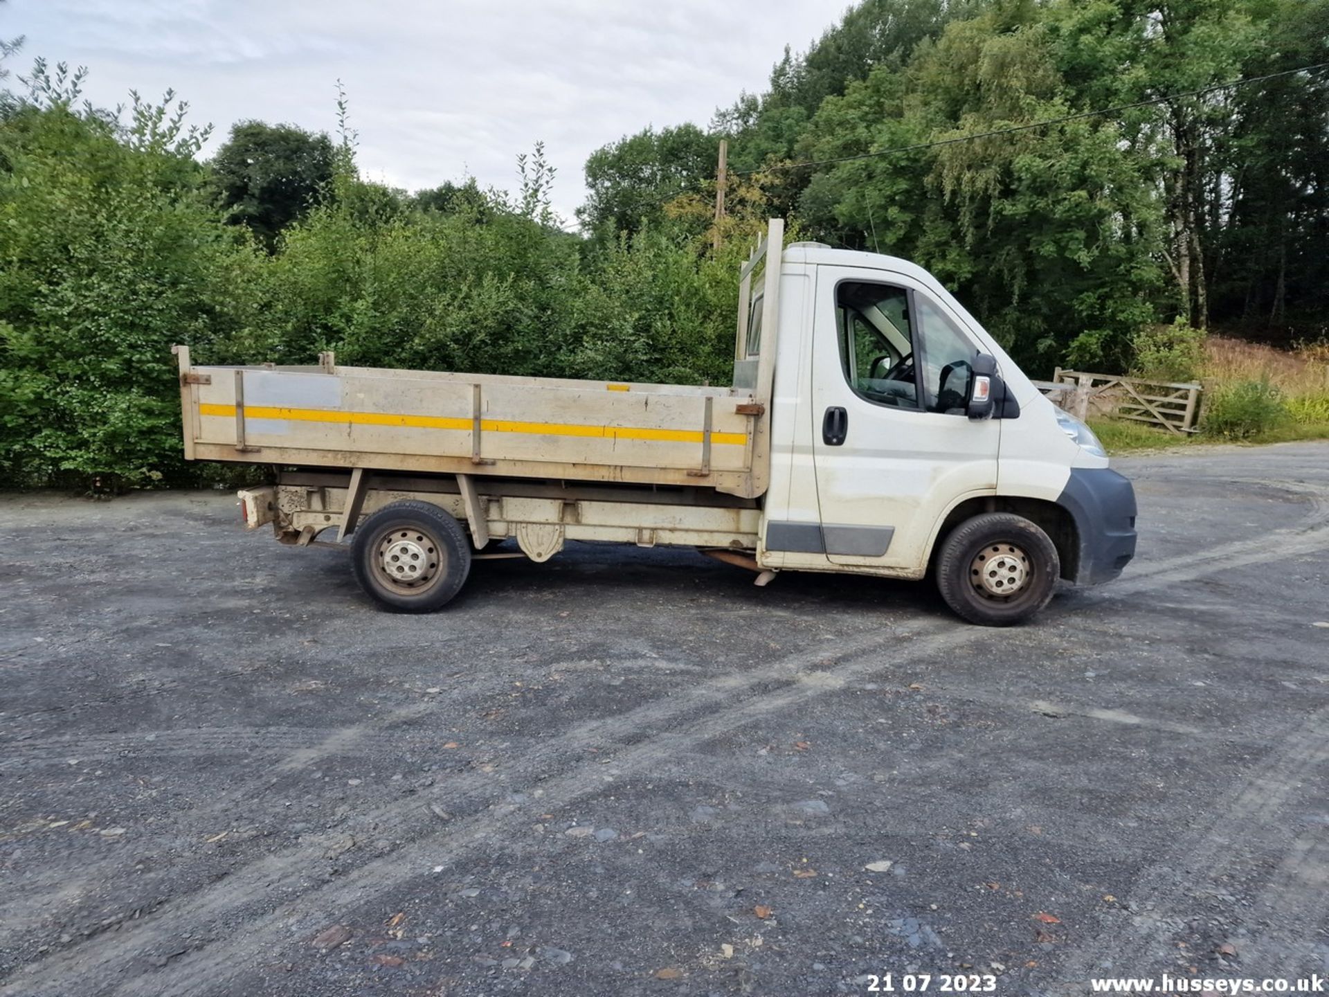
[[(516, 189), (545, 142), (554, 209), (585, 198), (582, 166), (647, 125), (706, 125), (766, 89), (784, 45), (805, 51), (847, 0), (9, 0), (0, 37), (85, 65), (114, 106), (167, 88), (211, 122), (336, 129), (336, 81), (368, 179), (416, 190), (473, 175)], [(13, 81), (11, 81), (13, 82)]]

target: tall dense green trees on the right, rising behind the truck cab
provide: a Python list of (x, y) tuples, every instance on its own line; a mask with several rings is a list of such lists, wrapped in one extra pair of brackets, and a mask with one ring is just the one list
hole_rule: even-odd
[[(934, 271), (1027, 367), (1123, 370), (1155, 320), (1322, 335), (1329, 73), (1170, 97), (1325, 61), (1325, 0), (867, 0), (708, 137), (809, 237)], [(634, 154), (590, 225), (695, 171), (642, 160), (666, 133), (591, 157)]]

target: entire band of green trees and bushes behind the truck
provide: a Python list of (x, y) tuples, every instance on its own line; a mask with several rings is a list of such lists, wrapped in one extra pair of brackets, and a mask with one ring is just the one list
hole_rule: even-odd
[[(473, 179), (407, 194), (358, 175), (343, 100), (339, 138), (242, 122), (202, 162), (207, 133), (173, 97), (98, 110), (62, 66), (5, 78), (5, 43), (0, 471), (190, 480), (175, 342), (203, 363), (332, 348), (358, 364), (724, 380), (735, 271), (775, 214), (796, 238), (933, 270), (1033, 372), (1180, 376), (1215, 326), (1314, 339), (1329, 73), (1171, 97), (1326, 49), (1329, 0), (864, 0), (708, 126), (594, 153), (574, 235), (540, 145), (510, 195)], [(1211, 424), (1239, 435), (1282, 404), (1243, 388)]]

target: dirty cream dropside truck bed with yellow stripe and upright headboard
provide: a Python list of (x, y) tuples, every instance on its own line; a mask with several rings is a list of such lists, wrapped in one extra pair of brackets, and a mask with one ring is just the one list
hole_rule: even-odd
[[(331, 355), (320, 367), (193, 367), (187, 347), (178, 347), (185, 455), (700, 485), (756, 497), (769, 480), (781, 246), (783, 222), (772, 219), (740, 275), (747, 300), (754, 273), (768, 263), (751, 387), (336, 367)], [(746, 323), (740, 308), (740, 344)]]

